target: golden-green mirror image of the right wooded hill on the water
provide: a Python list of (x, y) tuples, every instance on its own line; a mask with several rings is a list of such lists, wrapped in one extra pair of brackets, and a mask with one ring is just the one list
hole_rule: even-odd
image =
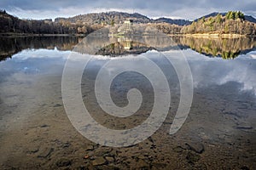
[(200, 38), (179, 37), (177, 43), (189, 46), (189, 48), (201, 54), (220, 56), (223, 59), (234, 59), (239, 54), (247, 53), (256, 47), (253, 37), (239, 38)]

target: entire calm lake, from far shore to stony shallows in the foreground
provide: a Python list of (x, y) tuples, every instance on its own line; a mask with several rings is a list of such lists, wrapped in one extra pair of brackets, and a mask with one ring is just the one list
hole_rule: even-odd
[[(170, 42), (159, 37), (140, 38), (143, 42), (129, 37), (1, 37), (1, 169), (255, 168), (256, 39), (170, 37)], [(182, 98), (180, 82), (189, 80), (183, 75), (185, 65), (176, 57), (179, 54), (183, 54), (191, 71), (193, 99), (183, 125), (170, 134)], [(90, 117), (109, 131), (131, 129), (148, 120), (157, 96), (154, 86), (162, 87), (162, 83), (152, 84), (147, 76), (133, 70), (148, 71), (148, 77), (150, 73), (157, 75), (158, 70), (148, 66), (154, 62), (161, 76), (166, 77), (171, 94), (160, 127), (148, 138), (132, 137), (131, 142), (107, 141), (110, 133), (97, 130), (85, 138), (73, 126), (72, 117), (78, 108), (73, 105), (68, 110), (63, 104), (63, 71), (67, 61), (72, 64), (70, 71), (79, 71), (84, 60), (77, 56), (90, 57), (78, 88), (83, 103)], [(105, 76), (98, 88), (117, 68), (131, 66), (131, 70), (113, 78), (109, 95), (119, 108), (129, 105), (129, 101), (137, 105), (137, 99), (141, 99), (134, 115), (109, 115), (102, 106), (110, 103), (97, 100), (97, 95), (104, 97), (105, 91), (103, 87), (102, 94), (96, 94), (96, 77), (109, 61), (116, 64), (102, 71)], [(182, 71), (185, 80), (177, 71)], [(152, 77), (158, 80), (155, 75)], [(130, 99), (129, 90), (134, 88), (140, 94)], [(162, 96), (169, 94), (160, 90)], [(162, 96), (161, 102), (165, 103)], [(90, 129), (86, 126), (83, 128)], [(102, 142), (105, 138), (106, 143)]]

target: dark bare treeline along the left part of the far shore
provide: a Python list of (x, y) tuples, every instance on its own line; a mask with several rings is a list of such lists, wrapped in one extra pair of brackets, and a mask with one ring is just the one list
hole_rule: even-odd
[(102, 26), (84, 26), (68, 22), (57, 23), (52, 20), (20, 20), (0, 10), (0, 33), (32, 34), (88, 34)]

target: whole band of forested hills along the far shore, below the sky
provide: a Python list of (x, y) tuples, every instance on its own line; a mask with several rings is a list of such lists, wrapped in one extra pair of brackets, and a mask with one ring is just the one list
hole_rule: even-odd
[[(18, 34), (83, 34), (87, 35), (103, 26), (122, 24), (125, 20), (133, 23), (154, 26), (166, 34), (239, 34), (256, 35), (256, 23), (251, 16), (241, 12), (212, 13), (191, 23), (189, 20), (166, 18), (149, 19), (143, 14), (108, 12), (99, 14), (80, 14), (70, 18), (53, 20), (20, 20), (0, 10), (0, 33)], [(251, 20), (251, 21), (248, 21)]]

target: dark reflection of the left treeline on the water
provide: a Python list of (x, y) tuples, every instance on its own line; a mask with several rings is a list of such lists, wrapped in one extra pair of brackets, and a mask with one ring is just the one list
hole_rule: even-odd
[(72, 50), (78, 42), (78, 37), (0, 37), (0, 60), (27, 48)]

